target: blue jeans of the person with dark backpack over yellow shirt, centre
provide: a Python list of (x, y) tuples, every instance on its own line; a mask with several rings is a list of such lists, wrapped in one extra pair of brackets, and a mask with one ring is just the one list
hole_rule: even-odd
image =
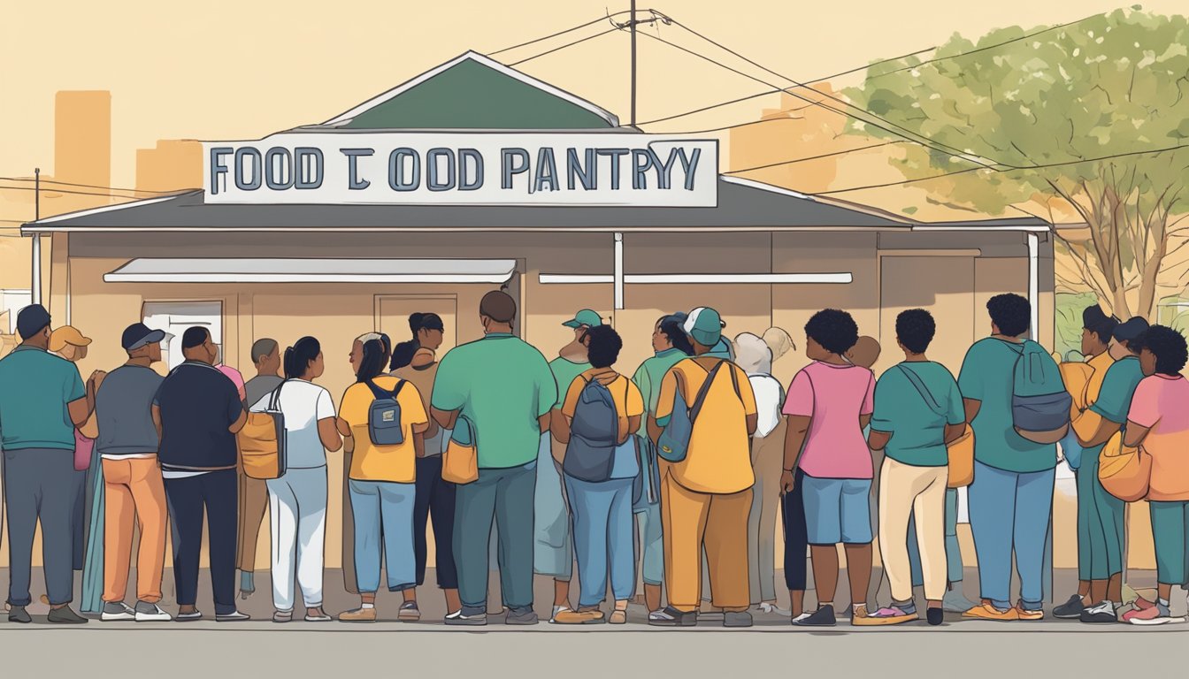
[(566, 476), (566, 495), (574, 517), (579, 606), (597, 606), (606, 598), (608, 566), (611, 593), (628, 601), (636, 589), (636, 553), (631, 526), (634, 478), (589, 483)]

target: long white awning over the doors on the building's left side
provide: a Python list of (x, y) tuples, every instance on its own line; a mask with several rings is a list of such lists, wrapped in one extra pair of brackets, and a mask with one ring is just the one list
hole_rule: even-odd
[(107, 283), (507, 283), (515, 259), (133, 259)]

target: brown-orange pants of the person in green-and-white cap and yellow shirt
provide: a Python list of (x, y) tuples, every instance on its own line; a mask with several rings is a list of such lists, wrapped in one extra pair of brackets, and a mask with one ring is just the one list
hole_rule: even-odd
[(711, 604), (725, 611), (747, 610), (751, 489), (732, 495), (694, 492), (667, 472), (661, 471), (661, 524), (669, 604), (681, 611), (698, 610), (705, 546)]

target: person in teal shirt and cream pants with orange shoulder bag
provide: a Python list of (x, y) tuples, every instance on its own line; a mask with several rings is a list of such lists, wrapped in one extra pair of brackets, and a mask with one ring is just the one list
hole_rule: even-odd
[[(869, 444), (883, 451), (880, 474), (880, 555), (892, 585), (892, 604), (872, 614), (873, 623), (900, 624), (919, 620), (912, 598), (912, 570), (905, 533), (917, 521), (929, 624), (943, 621), (945, 596), (945, 490), (949, 480), (946, 444), (965, 433), (965, 410), (954, 376), (925, 357), (937, 326), (924, 309), (901, 312), (897, 344), (905, 360), (875, 384), (875, 410)], [(866, 622), (866, 621), (864, 621)]]

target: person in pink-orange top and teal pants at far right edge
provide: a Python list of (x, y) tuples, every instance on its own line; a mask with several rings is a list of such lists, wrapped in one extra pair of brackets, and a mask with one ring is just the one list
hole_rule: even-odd
[(1165, 326), (1152, 326), (1133, 342), (1144, 379), (1127, 413), (1122, 445), (1141, 447), (1152, 458), (1147, 509), (1156, 546), (1156, 601), (1140, 598), (1122, 615), (1131, 624), (1184, 622), (1172, 617), (1172, 587), (1189, 584), (1189, 381), (1185, 338)]

